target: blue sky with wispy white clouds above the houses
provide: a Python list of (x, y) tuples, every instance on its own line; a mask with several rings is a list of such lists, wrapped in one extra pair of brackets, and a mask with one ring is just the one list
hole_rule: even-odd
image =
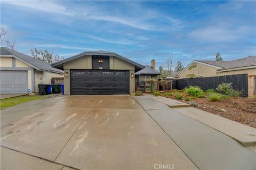
[(1, 1), (1, 27), (15, 49), (63, 57), (116, 52), (141, 64), (183, 65), (256, 55), (255, 1)]

